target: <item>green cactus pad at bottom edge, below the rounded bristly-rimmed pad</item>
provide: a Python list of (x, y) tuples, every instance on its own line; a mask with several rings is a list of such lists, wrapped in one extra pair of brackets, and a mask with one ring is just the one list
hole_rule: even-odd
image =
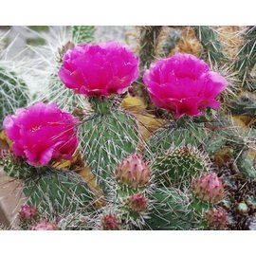
[(174, 189), (157, 189), (152, 195), (152, 210), (145, 219), (145, 229), (180, 230), (191, 229), (188, 199)]

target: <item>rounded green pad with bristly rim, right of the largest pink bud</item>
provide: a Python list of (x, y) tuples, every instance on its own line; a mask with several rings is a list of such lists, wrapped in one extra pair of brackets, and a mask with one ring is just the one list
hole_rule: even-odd
[(208, 155), (196, 148), (191, 146), (174, 148), (165, 155), (155, 158), (153, 164), (155, 182), (184, 189), (191, 184), (192, 178), (208, 172), (209, 165)]

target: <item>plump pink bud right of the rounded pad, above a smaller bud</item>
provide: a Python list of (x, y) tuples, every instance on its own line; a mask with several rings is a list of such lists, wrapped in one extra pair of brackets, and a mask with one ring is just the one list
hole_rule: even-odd
[(217, 174), (206, 174), (193, 183), (194, 196), (207, 203), (218, 203), (224, 198), (224, 187)]

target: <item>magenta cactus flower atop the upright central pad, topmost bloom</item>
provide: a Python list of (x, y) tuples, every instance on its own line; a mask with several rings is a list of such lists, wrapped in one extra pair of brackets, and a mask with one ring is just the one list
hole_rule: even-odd
[(119, 43), (76, 46), (64, 54), (59, 76), (75, 93), (108, 97), (122, 94), (137, 80), (138, 64), (138, 58)]

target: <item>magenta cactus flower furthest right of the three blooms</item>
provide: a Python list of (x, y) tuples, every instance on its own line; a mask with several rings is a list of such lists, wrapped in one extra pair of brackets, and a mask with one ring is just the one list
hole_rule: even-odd
[(155, 106), (174, 111), (177, 119), (202, 116), (208, 107), (218, 109), (216, 97), (228, 86), (226, 79), (210, 71), (208, 64), (180, 53), (152, 64), (143, 81)]

